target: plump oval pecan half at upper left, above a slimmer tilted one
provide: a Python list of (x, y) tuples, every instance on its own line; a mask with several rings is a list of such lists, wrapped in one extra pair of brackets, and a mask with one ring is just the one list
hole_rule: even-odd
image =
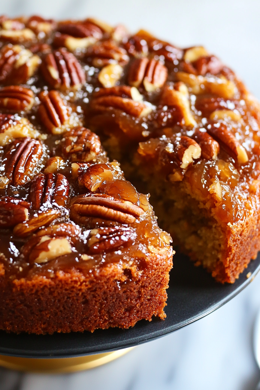
[(65, 48), (47, 54), (42, 61), (41, 71), (55, 89), (77, 90), (86, 81), (77, 58)]

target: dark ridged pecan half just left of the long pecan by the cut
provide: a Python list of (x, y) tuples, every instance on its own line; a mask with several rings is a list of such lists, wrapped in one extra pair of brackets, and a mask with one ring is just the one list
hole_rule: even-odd
[(33, 210), (39, 210), (44, 205), (50, 207), (65, 207), (69, 200), (69, 182), (60, 173), (35, 176), (30, 183), (29, 201)]

